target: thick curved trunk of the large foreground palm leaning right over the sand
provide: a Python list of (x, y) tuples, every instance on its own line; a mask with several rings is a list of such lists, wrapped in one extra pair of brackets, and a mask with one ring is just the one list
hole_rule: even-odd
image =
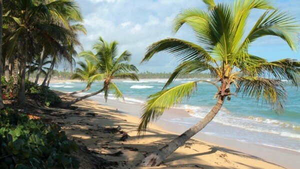
[(212, 109), (208, 112), (208, 114), (200, 120), (198, 123), (190, 127), (188, 130), (183, 132), (183, 134), (179, 135), (177, 138), (173, 139), (171, 142), (157, 150), (156, 152), (151, 153), (147, 157), (145, 157), (140, 166), (158, 166), (162, 163), (162, 161), (168, 157), (172, 152), (174, 152), (178, 147), (182, 146), (185, 141), (191, 138), (194, 134), (203, 129), (208, 122), (210, 122), (216, 113), (220, 110), (221, 106), (224, 102), (224, 96), (219, 96), (217, 103), (212, 107)]

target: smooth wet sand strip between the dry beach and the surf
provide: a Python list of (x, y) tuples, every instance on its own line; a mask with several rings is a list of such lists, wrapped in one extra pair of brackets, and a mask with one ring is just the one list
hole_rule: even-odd
[[(139, 108), (137, 107), (140, 107), (140, 104), (120, 102), (112, 99), (109, 99), (107, 103), (103, 104), (103, 102), (105, 102), (104, 99), (101, 99), (99, 97), (97, 97), (96, 99), (91, 97), (90, 99), (97, 102), (99, 105), (108, 106), (111, 109), (117, 108), (118, 112), (120, 113), (139, 118), (139, 116), (136, 115), (137, 113), (134, 113), (134, 111), (139, 111)], [(178, 128), (178, 125), (176, 125), (175, 122), (167, 122), (164, 120), (169, 118), (170, 115), (174, 117), (174, 114), (176, 117), (184, 117), (189, 115), (188, 112), (184, 109), (170, 108), (169, 110), (165, 111), (161, 118), (153, 124), (158, 126), (159, 128), (162, 128), (161, 131), (163, 132), (179, 135), (187, 128)], [(149, 128), (151, 128), (151, 126)], [(174, 128), (176, 128), (176, 131), (174, 131)], [(250, 154), (258, 157), (259, 159), (263, 159), (265, 161), (275, 163), (286, 168), (297, 168), (297, 166), (300, 165), (300, 160), (298, 160), (298, 158), (300, 157), (300, 152), (284, 147), (244, 142), (233, 138), (209, 135), (201, 131), (193, 136), (192, 139), (205, 142), (207, 144), (222, 146), (225, 149), (231, 149), (234, 151)], [(294, 163), (289, 163), (287, 161), (293, 161)]]

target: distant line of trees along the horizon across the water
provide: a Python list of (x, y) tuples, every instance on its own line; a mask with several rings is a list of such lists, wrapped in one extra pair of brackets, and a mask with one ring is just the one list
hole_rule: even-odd
[[(52, 78), (53, 79), (70, 79), (72, 73), (68, 71), (57, 71), (53, 70)], [(140, 72), (137, 74), (140, 79), (145, 78), (169, 78), (171, 75), (171, 72)], [(30, 74), (31, 77), (35, 77), (35, 73)], [(43, 74), (41, 74), (43, 76)], [(190, 73), (190, 74), (184, 74), (184, 75), (178, 75), (177, 78), (210, 78), (210, 75), (207, 73)]]

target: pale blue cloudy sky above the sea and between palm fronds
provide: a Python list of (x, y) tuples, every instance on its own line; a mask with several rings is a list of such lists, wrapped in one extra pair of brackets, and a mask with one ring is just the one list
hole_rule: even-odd
[[(182, 26), (176, 34), (171, 31), (173, 18), (183, 9), (197, 7), (206, 9), (202, 0), (76, 0), (79, 3), (87, 35), (80, 35), (85, 50), (102, 36), (106, 41), (119, 42), (119, 52), (129, 50), (131, 62), (140, 72), (171, 72), (179, 63), (171, 54), (162, 52), (150, 61), (140, 64), (145, 48), (167, 37), (176, 37), (195, 42), (193, 32)], [(231, 0), (215, 0), (231, 1)], [(300, 20), (300, 0), (272, 0), (276, 7), (288, 11)], [(246, 32), (255, 23), (263, 10), (254, 10), (248, 19)], [(300, 48), (299, 48), (300, 49)], [(298, 50), (299, 50), (298, 49)], [(78, 51), (79, 52), (79, 51)], [(281, 58), (300, 59), (299, 51), (291, 51), (278, 37), (265, 36), (253, 43), (249, 52), (269, 61)]]

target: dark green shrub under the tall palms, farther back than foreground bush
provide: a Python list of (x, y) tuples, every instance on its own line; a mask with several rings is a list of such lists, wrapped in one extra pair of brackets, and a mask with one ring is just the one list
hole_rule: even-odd
[(46, 106), (60, 105), (60, 97), (49, 89), (48, 86), (34, 85), (33, 82), (25, 81), (26, 94)]

